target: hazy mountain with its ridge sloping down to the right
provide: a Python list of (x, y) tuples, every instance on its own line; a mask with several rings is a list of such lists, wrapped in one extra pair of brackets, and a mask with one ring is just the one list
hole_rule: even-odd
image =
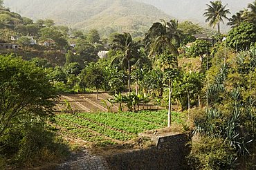
[(8, 0), (5, 6), (32, 19), (53, 19), (56, 23), (89, 30), (97, 28), (102, 34), (138, 32), (142, 34), (159, 19), (170, 19), (154, 6), (127, 0)]

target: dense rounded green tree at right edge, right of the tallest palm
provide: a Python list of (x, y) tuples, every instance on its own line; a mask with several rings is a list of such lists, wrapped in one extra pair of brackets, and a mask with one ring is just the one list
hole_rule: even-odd
[(256, 26), (253, 23), (241, 23), (228, 32), (226, 43), (238, 50), (247, 49), (256, 42)]

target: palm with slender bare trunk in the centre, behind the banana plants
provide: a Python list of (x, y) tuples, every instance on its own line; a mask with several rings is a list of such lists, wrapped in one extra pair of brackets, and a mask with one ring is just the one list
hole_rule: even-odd
[(133, 41), (131, 35), (127, 32), (123, 34), (114, 35), (113, 45), (114, 50), (122, 51), (122, 55), (116, 55), (111, 61), (111, 63), (116, 58), (121, 58), (122, 64), (127, 64), (128, 69), (128, 91), (131, 92), (131, 59), (138, 57), (139, 46), (136, 42)]

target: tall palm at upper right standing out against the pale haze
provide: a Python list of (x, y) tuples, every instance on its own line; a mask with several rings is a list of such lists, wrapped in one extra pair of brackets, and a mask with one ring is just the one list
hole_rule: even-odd
[(221, 1), (210, 1), (210, 5), (205, 9), (206, 12), (203, 13), (203, 17), (206, 17), (205, 22), (209, 22), (209, 26), (213, 26), (213, 28), (217, 25), (218, 32), (221, 32), (220, 23), (224, 23), (224, 19), (228, 19), (226, 16), (230, 14), (229, 9), (226, 9), (226, 6), (222, 5)]

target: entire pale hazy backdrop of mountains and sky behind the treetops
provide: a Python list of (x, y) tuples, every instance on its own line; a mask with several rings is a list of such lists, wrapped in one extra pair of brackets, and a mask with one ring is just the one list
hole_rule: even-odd
[[(252, 2), (223, 0), (223, 5), (228, 4), (227, 8), (235, 14)], [(159, 19), (190, 20), (206, 26), (202, 15), (210, 0), (6, 0), (4, 3), (35, 20), (53, 19), (58, 24), (84, 30), (141, 33)]]

